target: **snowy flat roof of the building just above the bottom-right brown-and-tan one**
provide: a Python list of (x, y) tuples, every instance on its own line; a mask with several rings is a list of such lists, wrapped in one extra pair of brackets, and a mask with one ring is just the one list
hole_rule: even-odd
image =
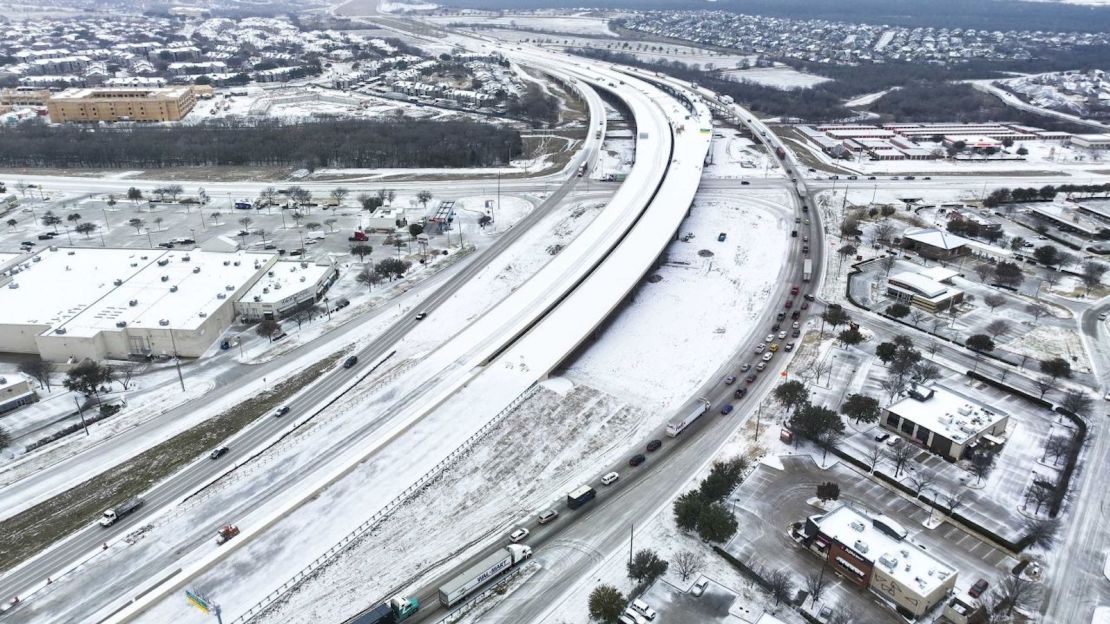
[(1009, 417), (942, 385), (915, 386), (907, 394), (887, 410), (958, 444)]

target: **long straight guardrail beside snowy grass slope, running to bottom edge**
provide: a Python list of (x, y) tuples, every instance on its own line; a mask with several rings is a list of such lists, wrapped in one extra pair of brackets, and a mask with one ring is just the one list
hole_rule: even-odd
[(527, 390), (522, 392), (514, 399), (508, 405), (506, 405), (501, 412), (497, 413), (493, 419), (491, 419), (486, 424), (474, 432), (470, 437), (463, 441), (454, 451), (451, 452), (446, 457), (444, 457), (440, 463), (434, 465), (426, 473), (421, 475), (412, 485), (410, 485), (404, 492), (397, 495), (395, 499), (386, 503), (384, 507), (370, 516), (365, 522), (360, 524), (353, 531), (344, 535), (339, 542), (333, 544), (330, 548), (324, 551), (322, 555), (313, 560), (311, 563), (305, 565), (293, 576), (282, 583), (276, 590), (268, 594), (264, 598), (251, 606), (242, 615), (239, 615), (232, 620), (232, 624), (246, 624), (248, 622), (253, 622), (256, 617), (263, 615), (271, 606), (278, 603), (279, 598), (285, 595), (287, 592), (299, 587), (305, 581), (311, 578), (317, 571), (323, 568), (325, 565), (334, 561), (343, 551), (347, 550), (354, 544), (360, 537), (376, 527), (382, 521), (389, 517), (397, 507), (402, 504), (412, 500), (415, 495), (420, 494), (424, 489), (431, 485), (432, 481), (443, 474), (447, 467), (454, 465), (458, 460), (463, 459), (467, 453), (470, 453), (474, 445), (485, 437), (491, 431), (493, 431), (497, 425), (504, 421), (509, 413), (512, 413), (522, 403), (532, 397), (539, 388), (538, 384), (532, 384)]

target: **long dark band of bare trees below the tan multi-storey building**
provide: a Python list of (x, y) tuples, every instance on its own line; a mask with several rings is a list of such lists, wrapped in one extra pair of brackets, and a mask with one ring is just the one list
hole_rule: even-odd
[(0, 128), (0, 165), (163, 168), (285, 165), (315, 169), (488, 167), (521, 154), (521, 134), (472, 121), (327, 120), (282, 124), (21, 124)]

